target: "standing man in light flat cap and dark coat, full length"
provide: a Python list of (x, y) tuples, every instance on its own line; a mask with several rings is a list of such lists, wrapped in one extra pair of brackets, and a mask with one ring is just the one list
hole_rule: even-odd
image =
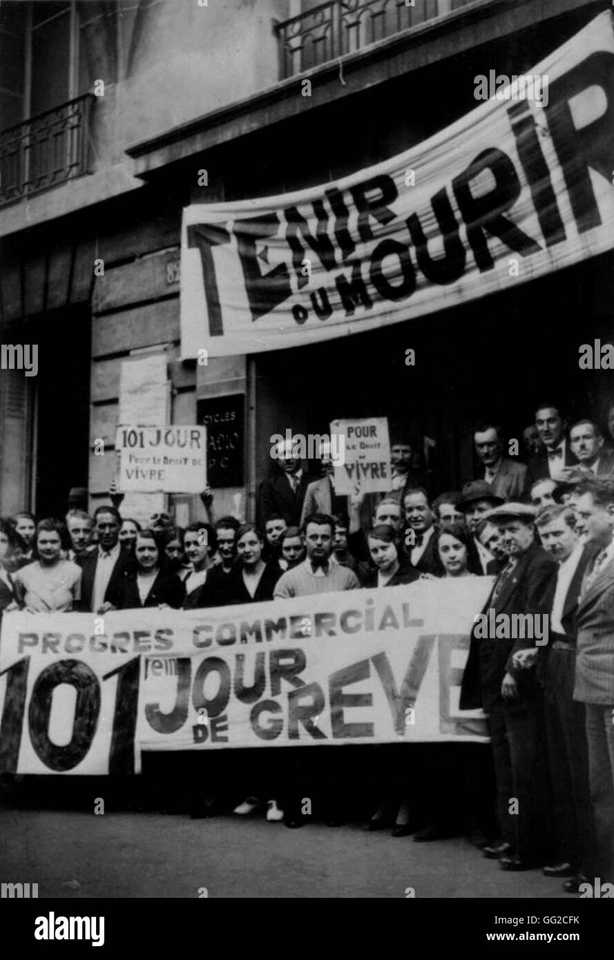
[[(461, 709), (484, 708), (490, 725), (503, 842), (484, 848), (484, 855), (499, 858), (504, 870), (525, 870), (548, 853), (546, 753), (540, 686), (534, 673), (512, 662), (517, 650), (534, 645), (536, 631), (529, 637), (518, 629), (514, 637), (513, 616), (540, 614), (555, 561), (534, 540), (532, 507), (508, 503), (488, 518), (497, 523), (509, 559), (476, 617)], [(494, 636), (490, 626), (484, 633), (486, 620), (497, 624)]]

